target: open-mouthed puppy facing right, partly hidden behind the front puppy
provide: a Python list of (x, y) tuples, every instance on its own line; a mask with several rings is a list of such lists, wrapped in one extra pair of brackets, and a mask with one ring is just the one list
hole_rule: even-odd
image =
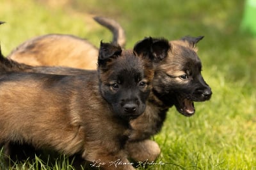
[[(153, 89), (146, 110), (139, 118), (131, 121), (134, 131), (129, 137), (127, 151), (134, 160), (155, 160), (156, 155), (159, 155), (159, 146), (154, 141), (151, 144), (145, 142), (145, 146), (153, 147), (141, 144), (161, 130), (170, 107), (175, 105), (177, 111), (184, 116), (192, 116), (195, 113), (193, 102), (211, 98), (211, 88), (201, 75), (202, 63), (196, 54), (196, 43), (202, 38), (203, 36), (184, 37), (171, 42), (152, 39), (152, 50), (159, 60), (155, 62)], [(148, 41), (150, 38), (142, 42)], [(151, 156), (148, 153), (152, 153)]]

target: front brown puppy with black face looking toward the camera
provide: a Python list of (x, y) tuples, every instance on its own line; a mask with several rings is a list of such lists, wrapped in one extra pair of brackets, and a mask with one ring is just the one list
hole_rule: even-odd
[[(0, 143), (27, 143), (104, 169), (134, 169), (124, 150), (129, 121), (145, 110), (154, 77), (147, 47), (122, 51), (101, 43), (98, 73), (51, 75), (0, 67)], [(150, 59), (149, 59), (150, 58)], [(3, 60), (2, 60), (3, 61)], [(111, 166), (112, 165), (112, 166)]]

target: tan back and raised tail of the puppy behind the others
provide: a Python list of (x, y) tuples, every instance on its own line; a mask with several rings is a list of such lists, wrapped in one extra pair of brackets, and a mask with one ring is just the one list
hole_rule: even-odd
[[(94, 19), (113, 33), (113, 43), (124, 47), (124, 29), (115, 20), (106, 17)], [(32, 66), (70, 66), (95, 70), (98, 53), (97, 47), (82, 38), (51, 34), (22, 43), (8, 55), (8, 58)], [(83, 59), (84, 57), (86, 59)]]

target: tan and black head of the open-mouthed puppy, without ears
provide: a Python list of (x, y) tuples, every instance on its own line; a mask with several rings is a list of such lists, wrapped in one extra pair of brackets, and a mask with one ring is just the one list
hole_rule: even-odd
[(201, 75), (202, 63), (188, 42), (172, 43), (172, 52), (159, 63), (153, 91), (165, 105), (175, 105), (185, 116), (195, 113), (193, 102), (209, 100), (211, 88)]

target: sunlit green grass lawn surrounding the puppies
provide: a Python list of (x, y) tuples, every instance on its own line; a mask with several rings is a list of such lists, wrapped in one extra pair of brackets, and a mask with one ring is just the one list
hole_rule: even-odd
[[(92, 15), (118, 20), (127, 48), (144, 36), (174, 40), (204, 35), (198, 55), (212, 98), (196, 103), (191, 118), (170, 109), (163, 130), (154, 137), (162, 150), (156, 162), (165, 164), (148, 169), (256, 169), (256, 38), (239, 29), (243, 1), (77, 0), (61, 7), (36, 2), (1, 2), (0, 20), (7, 22), (0, 26), (4, 54), (47, 33), (80, 36), (97, 46), (100, 40), (110, 41), (111, 33), (93, 22)], [(62, 160), (58, 166), (40, 166), (61, 169), (63, 164), (68, 167)]]

